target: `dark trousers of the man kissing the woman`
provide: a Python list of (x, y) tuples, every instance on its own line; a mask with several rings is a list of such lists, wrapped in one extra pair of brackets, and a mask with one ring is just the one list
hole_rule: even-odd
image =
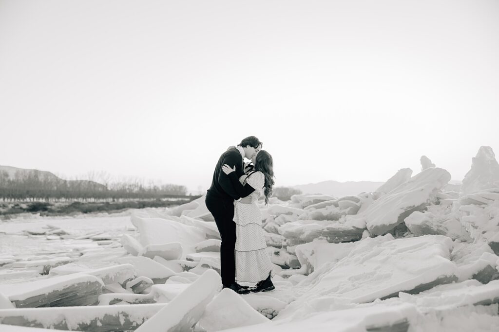
[(222, 284), (231, 285), (236, 279), (236, 223), (234, 222), (234, 200), (223, 199), (221, 196), (208, 192), (206, 207), (215, 218), (220, 231), (222, 245), (220, 247), (220, 269)]

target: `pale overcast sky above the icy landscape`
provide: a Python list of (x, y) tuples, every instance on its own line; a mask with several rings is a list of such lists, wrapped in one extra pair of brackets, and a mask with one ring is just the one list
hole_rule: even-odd
[(207, 189), (249, 135), (276, 185), (499, 153), (499, 1), (0, 0), (0, 165)]

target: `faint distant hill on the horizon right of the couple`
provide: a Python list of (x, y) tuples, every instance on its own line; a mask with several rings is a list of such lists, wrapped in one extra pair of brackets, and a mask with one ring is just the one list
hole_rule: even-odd
[(310, 183), (307, 185), (293, 186), (299, 189), (303, 194), (322, 194), (335, 197), (358, 195), (362, 192), (373, 192), (384, 182), (373, 181), (323, 181), (319, 183)]

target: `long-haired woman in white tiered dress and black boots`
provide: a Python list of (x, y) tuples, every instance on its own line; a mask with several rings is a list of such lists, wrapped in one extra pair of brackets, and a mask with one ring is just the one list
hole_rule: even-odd
[[(234, 202), (234, 222), (236, 222), (236, 280), (237, 282), (256, 282), (252, 292), (266, 292), (274, 289), (270, 280), (272, 263), (266, 251), (265, 237), (261, 228), (261, 212), (256, 205), (263, 190), (265, 204), (272, 194), (272, 156), (264, 151), (256, 152), (251, 161), (254, 170), (238, 179), (236, 170), (224, 165), (222, 170), (229, 176), (238, 194), (245, 193), (245, 186), (251, 186), (251, 204)], [(248, 191), (246, 191), (248, 192)], [(247, 195), (247, 194), (246, 194)]]

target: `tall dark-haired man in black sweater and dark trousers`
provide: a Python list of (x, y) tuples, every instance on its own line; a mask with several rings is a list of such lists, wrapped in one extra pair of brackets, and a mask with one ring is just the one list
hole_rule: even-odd
[[(215, 167), (213, 181), (206, 194), (206, 207), (215, 218), (215, 223), (220, 231), (222, 245), (220, 247), (220, 268), (222, 284), (224, 288), (230, 288), (239, 294), (248, 294), (248, 287), (241, 286), (236, 282), (236, 258), (234, 248), (236, 246), (236, 223), (234, 222), (234, 200), (242, 200), (242, 203), (251, 203), (250, 198), (242, 199), (234, 189), (231, 179), (222, 171), (224, 164), (231, 168), (236, 167), (238, 177), (244, 174), (244, 158), (251, 157), (261, 150), (262, 143), (255, 136), (246, 137), (237, 147), (230, 147), (224, 152)], [(250, 185), (246, 185), (248, 195), (254, 191)], [(248, 195), (244, 195), (246, 197)]]

